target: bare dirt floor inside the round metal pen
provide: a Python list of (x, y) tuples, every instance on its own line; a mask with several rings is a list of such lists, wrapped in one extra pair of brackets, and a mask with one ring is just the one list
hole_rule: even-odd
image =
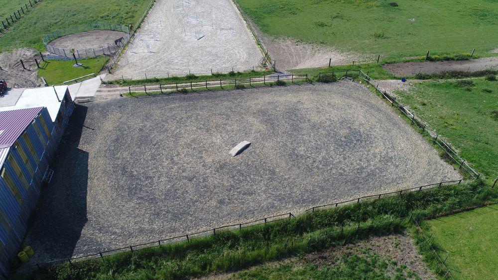
[(92, 30), (57, 38), (50, 42), (55, 48), (71, 49), (99, 49), (108, 45), (114, 46), (114, 41), (124, 37), (126, 33), (112, 30)]

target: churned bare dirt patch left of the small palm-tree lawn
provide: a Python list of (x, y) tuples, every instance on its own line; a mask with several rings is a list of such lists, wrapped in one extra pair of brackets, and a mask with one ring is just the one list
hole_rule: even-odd
[(20, 59), (33, 60), (38, 54), (34, 49), (22, 48), (16, 49), (9, 53), (0, 54), (0, 77), (5, 79), (9, 88), (34, 88), (39, 87), (38, 72), (36, 66), (26, 67), (30, 70), (24, 70), (21, 66)]

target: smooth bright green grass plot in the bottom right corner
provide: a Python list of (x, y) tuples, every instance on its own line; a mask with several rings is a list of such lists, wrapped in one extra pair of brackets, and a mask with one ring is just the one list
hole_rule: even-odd
[(430, 220), (428, 224), (436, 243), (448, 251), (446, 264), (454, 270), (454, 277), (458, 279), (498, 277), (496, 205)]

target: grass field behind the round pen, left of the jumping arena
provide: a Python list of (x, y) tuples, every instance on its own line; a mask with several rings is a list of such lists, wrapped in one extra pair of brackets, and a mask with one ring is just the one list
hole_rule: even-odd
[(134, 25), (149, 3), (150, 0), (85, 0), (78, 2), (43, 0), (0, 39), (0, 52), (20, 47), (44, 50), (41, 38), (45, 34), (74, 25), (94, 22)]

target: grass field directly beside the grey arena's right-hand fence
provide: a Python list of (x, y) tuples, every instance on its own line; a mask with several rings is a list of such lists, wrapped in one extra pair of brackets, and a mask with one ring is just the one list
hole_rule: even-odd
[(498, 176), (497, 81), (425, 82), (415, 84), (409, 93), (396, 93), (401, 103), (445, 137), (488, 183)]

